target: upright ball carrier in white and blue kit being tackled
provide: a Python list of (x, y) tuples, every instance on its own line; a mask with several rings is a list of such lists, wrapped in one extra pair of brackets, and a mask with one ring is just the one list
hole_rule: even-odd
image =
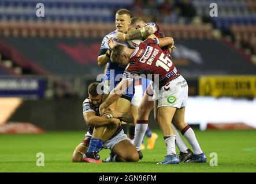
[[(116, 12), (116, 30), (113, 32), (107, 34), (101, 44), (101, 48), (99, 51), (98, 56), (98, 64), (100, 67), (105, 66), (108, 64), (106, 75), (103, 78), (103, 97), (102, 101), (104, 101), (107, 97), (107, 95), (110, 93), (114, 87), (121, 81), (121, 76), (124, 72), (125, 66), (121, 66), (117, 63), (111, 63), (110, 62), (110, 53), (114, 45), (117, 44), (117, 41), (110, 42), (109, 39), (116, 36), (118, 32), (127, 33), (127, 30), (129, 28), (129, 25), (131, 24), (131, 12), (126, 9), (120, 9)], [(120, 44), (124, 44), (128, 46), (126, 41), (118, 41)], [(119, 79), (118, 79), (119, 75)], [(119, 98), (116, 103), (114, 103), (110, 108), (111, 109), (118, 109), (118, 112), (120, 113), (127, 113), (128, 111), (133, 114), (133, 116), (136, 116), (137, 107), (131, 106), (131, 99), (133, 97), (134, 90), (133, 88), (130, 88), (130, 90), (125, 91), (125, 93)], [(136, 119), (136, 117), (134, 117)], [(134, 122), (135, 123), (135, 122)], [(105, 129), (107, 131), (105, 131)], [(94, 137), (95, 141), (98, 141), (98, 144), (104, 144), (102, 141), (102, 136), (105, 134), (105, 132), (108, 132), (108, 136), (112, 136), (110, 132), (114, 133), (116, 129), (114, 127), (97, 127), (94, 129), (92, 137)], [(107, 135), (105, 135), (107, 137)], [(93, 144), (92, 142), (90, 144)], [(86, 156), (88, 158), (95, 158), (97, 153), (100, 151), (100, 148), (98, 147), (91, 147), (89, 146)]]

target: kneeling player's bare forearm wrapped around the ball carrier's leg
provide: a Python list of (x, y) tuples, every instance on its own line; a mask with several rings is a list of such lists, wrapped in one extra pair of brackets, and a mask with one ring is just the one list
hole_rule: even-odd
[(107, 119), (103, 116), (96, 116), (95, 112), (86, 112), (84, 115), (84, 121), (88, 126), (102, 127), (108, 124), (117, 124), (116, 118)]

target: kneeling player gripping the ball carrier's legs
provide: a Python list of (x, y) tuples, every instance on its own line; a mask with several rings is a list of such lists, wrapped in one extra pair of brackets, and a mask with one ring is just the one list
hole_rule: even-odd
[[(126, 117), (127, 120), (131, 120), (133, 122), (133, 117), (130, 114), (123, 114), (120, 118), (105, 118), (99, 116), (99, 105), (101, 105), (102, 94), (97, 92), (97, 89), (101, 89), (102, 85), (100, 83), (91, 83), (88, 87), (89, 97), (83, 102), (83, 116), (87, 125), (89, 126), (88, 132), (86, 133), (86, 138), (75, 148), (75, 151), (72, 155), (72, 162), (98, 162), (98, 159), (88, 159), (83, 158), (86, 153), (90, 141), (94, 138), (92, 137), (94, 127), (101, 126), (116, 126), (117, 131), (114, 135), (106, 140), (105, 143), (98, 142), (95, 143), (95, 147), (99, 147), (100, 149), (110, 149), (112, 150), (111, 162), (138, 162), (139, 154), (136, 151), (136, 148), (132, 145), (132, 143), (127, 139), (127, 135), (125, 135), (123, 128), (121, 127), (122, 116)], [(130, 116), (130, 117), (129, 117)]]

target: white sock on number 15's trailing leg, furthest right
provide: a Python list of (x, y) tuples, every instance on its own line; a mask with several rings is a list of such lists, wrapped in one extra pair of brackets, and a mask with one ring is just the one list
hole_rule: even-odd
[(199, 145), (198, 141), (196, 140), (195, 132), (193, 131), (192, 128), (188, 128), (187, 131), (185, 131), (185, 133), (183, 134), (183, 136), (188, 141), (188, 143), (190, 143), (191, 147), (194, 150), (195, 155), (203, 153), (203, 151), (200, 148), (200, 145)]

